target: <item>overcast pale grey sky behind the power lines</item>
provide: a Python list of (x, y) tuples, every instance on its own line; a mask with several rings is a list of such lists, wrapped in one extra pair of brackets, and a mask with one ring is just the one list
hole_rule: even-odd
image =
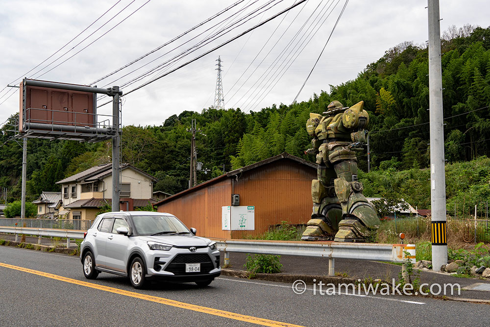
[[(181, 51), (195, 46), (213, 31), (218, 31), (217, 28), (236, 22), (244, 23), (218, 40), (180, 59), (173, 66), (163, 67), (152, 75), (124, 86), (122, 91), (127, 93), (296, 2), (274, 0), (267, 5), (270, 0), (244, 0), (161, 50), (115, 75), (92, 84), (206, 21), (238, 0), (147, 1), (2, 0), (0, 90), (11, 82), (18, 85), (21, 81), (19, 77), (24, 76), (66, 83), (96, 84), (99, 87), (123, 85), (165, 63)], [(487, 1), (440, 2), (441, 33), (450, 25), (490, 25)], [(172, 114), (178, 115), (183, 110), (200, 112), (203, 108), (212, 106), (218, 55), (223, 61), (222, 83), (226, 108), (240, 107), (248, 112), (260, 110), (274, 103), (290, 104), (317, 60), (344, 3), (345, 0), (307, 0), (287, 15), (281, 15), (194, 63), (128, 94), (123, 102), (123, 125), (160, 125)], [(262, 6), (265, 7), (247, 21), (248, 18), (245, 17)], [(298, 101), (308, 100), (313, 93), (319, 94), (321, 90), (328, 92), (329, 85), (338, 85), (354, 79), (369, 63), (376, 61), (386, 50), (399, 43), (425, 43), (428, 39), (426, 6), (426, 0), (350, 0)], [(123, 9), (124, 7), (126, 8)], [(139, 7), (141, 8), (138, 9)], [(262, 12), (267, 8), (269, 10)], [(240, 11), (241, 9), (243, 11)], [(107, 10), (109, 11), (104, 16), (67, 47), (28, 73), (94, 23)], [(109, 21), (120, 11), (119, 15)], [(219, 24), (231, 15), (234, 16)], [(106, 23), (107, 21), (109, 22)], [(119, 23), (120, 25), (114, 27)], [(216, 24), (218, 25), (213, 27)], [(112, 27), (114, 29), (109, 31)], [(206, 31), (207, 29), (209, 30)], [(299, 34), (294, 38), (298, 31)], [(107, 34), (100, 37), (106, 32)], [(85, 38), (87, 39), (84, 40)], [(96, 39), (98, 40), (92, 45), (82, 50)], [(182, 45), (185, 42), (187, 43)], [(80, 44), (77, 45), (78, 43)], [(174, 48), (177, 49), (173, 50)], [(62, 56), (69, 50), (71, 51)], [(48, 72), (78, 50), (82, 51)], [(171, 52), (167, 53), (169, 51)], [(62, 57), (55, 61), (60, 56)], [(254, 60), (255, 57), (257, 58)], [(52, 61), (54, 62), (50, 66), (44, 68)], [(138, 69), (145, 64), (147, 65)], [(42, 75), (43, 73), (45, 74)], [(10, 98), (4, 101), (9, 96)], [(19, 111), (18, 89), (7, 88), (0, 93), (0, 97), (0, 102), (4, 101), (0, 105), (0, 123), (3, 123), (11, 114)], [(100, 99), (98, 104), (107, 100), (109, 99)], [(100, 114), (110, 114), (111, 111), (110, 105), (98, 108)]]

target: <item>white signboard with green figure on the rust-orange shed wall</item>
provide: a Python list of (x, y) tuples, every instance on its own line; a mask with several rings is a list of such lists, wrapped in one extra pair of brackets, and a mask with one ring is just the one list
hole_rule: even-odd
[(255, 230), (255, 206), (221, 207), (221, 227), (222, 230)]

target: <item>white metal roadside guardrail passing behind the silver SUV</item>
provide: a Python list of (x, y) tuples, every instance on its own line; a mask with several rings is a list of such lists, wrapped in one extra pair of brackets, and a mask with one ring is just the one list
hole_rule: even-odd
[[(0, 226), (1, 233), (14, 233), (15, 241), (19, 234), (54, 236), (70, 239), (83, 239), (83, 230), (27, 228)], [(335, 259), (375, 260), (402, 263), (402, 272), (406, 270), (405, 252), (409, 252), (410, 261), (415, 263), (414, 244), (377, 244), (377, 243), (339, 243), (305, 241), (261, 241), (261, 240), (223, 240), (212, 239), (218, 250), (224, 252), (224, 264), (230, 263), (230, 252), (262, 253), (278, 255), (303, 255), (328, 258), (328, 275), (335, 276)]]

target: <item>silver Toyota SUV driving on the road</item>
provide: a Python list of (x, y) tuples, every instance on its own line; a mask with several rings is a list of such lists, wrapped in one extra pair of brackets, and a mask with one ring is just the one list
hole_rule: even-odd
[(83, 274), (100, 272), (129, 277), (135, 288), (149, 279), (209, 285), (221, 274), (216, 243), (197, 237), (170, 213), (125, 211), (103, 213), (80, 245)]

